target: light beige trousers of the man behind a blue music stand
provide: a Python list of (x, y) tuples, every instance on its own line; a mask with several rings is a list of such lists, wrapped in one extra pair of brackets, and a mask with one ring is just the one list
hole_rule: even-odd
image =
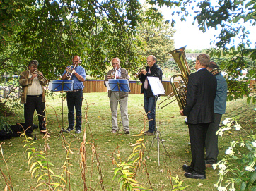
[(128, 97), (122, 99), (119, 98), (119, 92), (111, 92), (110, 108), (112, 113), (112, 129), (117, 130), (117, 106), (120, 104), (122, 126), (124, 130), (129, 130), (129, 118), (128, 118)]

